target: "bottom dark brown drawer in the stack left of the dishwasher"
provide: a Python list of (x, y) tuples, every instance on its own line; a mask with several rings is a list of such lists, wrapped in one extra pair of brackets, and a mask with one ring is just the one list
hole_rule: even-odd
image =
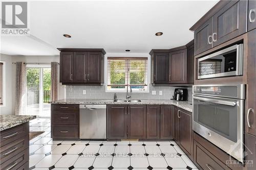
[(52, 138), (54, 139), (75, 139), (78, 138), (78, 126), (53, 125)]

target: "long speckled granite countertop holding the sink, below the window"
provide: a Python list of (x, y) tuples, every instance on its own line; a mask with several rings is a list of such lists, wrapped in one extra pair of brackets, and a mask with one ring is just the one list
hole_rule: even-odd
[[(132, 99), (131, 99), (132, 100)], [(141, 100), (141, 102), (114, 102), (110, 99), (62, 99), (51, 104), (79, 104), (79, 105), (174, 105), (192, 112), (192, 105), (187, 101), (175, 100)]]

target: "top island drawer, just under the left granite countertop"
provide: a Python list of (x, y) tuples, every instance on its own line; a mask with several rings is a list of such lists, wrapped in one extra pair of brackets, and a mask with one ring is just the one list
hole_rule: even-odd
[(13, 128), (0, 131), (0, 147), (29, 134), (29, 123), (15, 126)]

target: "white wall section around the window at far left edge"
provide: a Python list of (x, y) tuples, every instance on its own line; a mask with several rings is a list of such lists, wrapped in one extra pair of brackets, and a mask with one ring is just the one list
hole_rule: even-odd
[(12, 112), (12, 56), (0, 54), (0, 61), (5, 61), (5, 95), (4, 95), (4, 106), (0, 106), (0, 115), (14, 114)]

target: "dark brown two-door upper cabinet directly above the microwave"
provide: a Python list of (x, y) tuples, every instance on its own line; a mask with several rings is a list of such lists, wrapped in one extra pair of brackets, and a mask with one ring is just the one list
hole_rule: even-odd
[(247, 1), (219, 1), (193, 27), (195, 55), (246, 32)]

